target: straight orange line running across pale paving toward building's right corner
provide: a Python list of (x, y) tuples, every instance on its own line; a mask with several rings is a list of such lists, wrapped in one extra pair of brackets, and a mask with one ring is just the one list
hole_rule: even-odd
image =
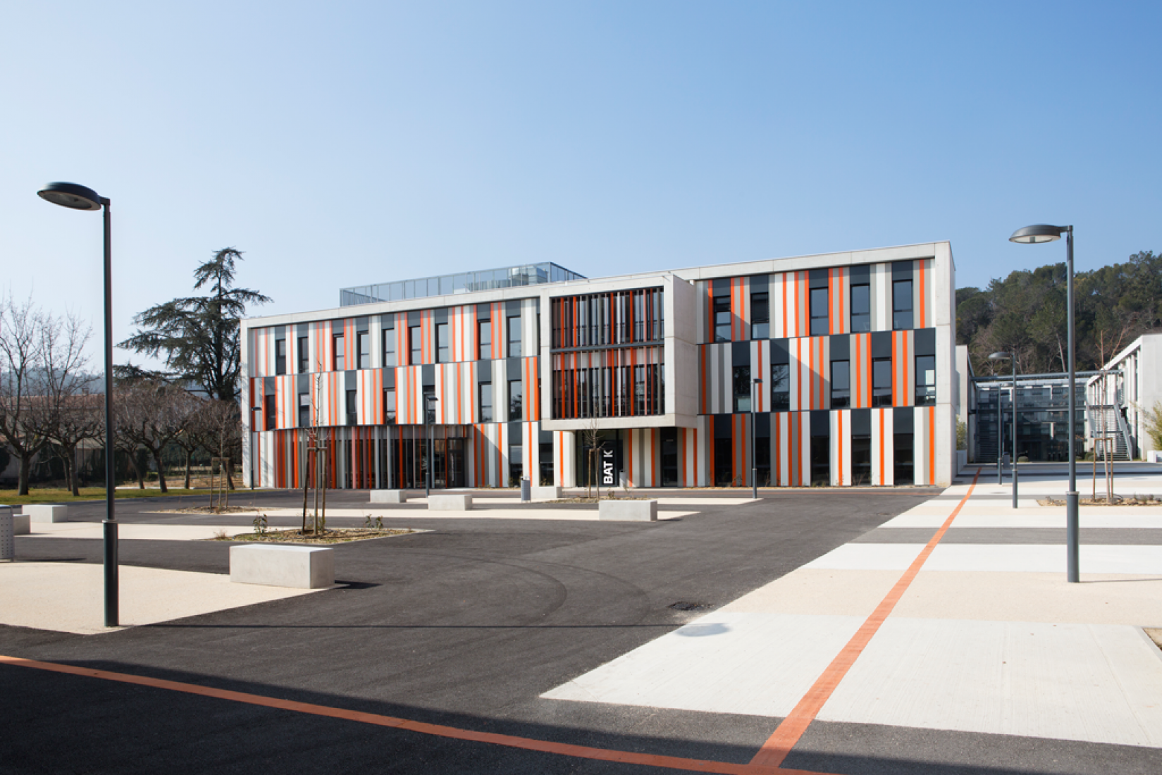
[(928, 555), (944, 538), (945, 533), (948, 532), (948, 528), (952, 526), (952, 521), (956, 518), (960, 510), (964, 508), (968, 503), (968, 498), (973, 496), (973, 489), (976, 488), (976, 480), (981, 476), (981, 468), (976, 469), (976, 475), (973, 476), (973, 483), (969, 486), (968, 491), (964, 493), (964, 497), (960, 500), (956, 508), (953, 509), (948, 518), (940, 526), (940, 530), (928, 540), (928, 543), (920, 550), (920, 553), (912, 560), (912, 565), (909, 566), (904, 575), (899, 577), (899, 581), (891, 588), (880, 604), (876, 605), (875, 610), (871, 612), (865, 622), (863, 625), (856, 631), (852, 639), (847, 641), (842, 651), (831, 661), (831, 665), (823, 672), (815, 684), (808, 689), (808, 693), (803, 695), (803, 698), (798, 701), (798, 704), (791, 710), (791, 712), (783, 719), (782, 724), (775, 730), (775, 733), (762, 745), (759, 753), (754, 755), (751, 760), (752, 765), (761, 767), (779, 767), (787, 759), (787, 754), (791, 752), (795, 744), (799, 741), (803, 733), (806, 732), (806, 727), (810, 726), (815, 717), (819, 715), (823, 710), (824, 704), (831, 698), (832, 693), (839, 687), (840, 681), (847, 675), (847, 672), (859, 659), (860, 654), (867, 647), (868, 643), (883, 625), (888, 616), (891, 615), (896, 603), (899, 598), (904, 596), (908, 588), (911, 586), (916, 575), (920, 572), (920, 568), (927, 561)]

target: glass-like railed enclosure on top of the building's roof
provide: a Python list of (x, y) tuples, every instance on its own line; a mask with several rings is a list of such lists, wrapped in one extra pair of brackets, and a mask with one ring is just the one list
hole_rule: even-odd
[(376, 285), (356, 286), (339, 290), (339, 306), (371, 304), (378, 301), (403, 301), (404, 299), (423, 299), (425, 296), (445, 296), (472, 290), (492, 290), (493, 288), (516, 288), (544, 282), (564, 282), (566, 280), (584, 280), (584, 275), (558, 266), (551, 261), (543, 264), (523, 264), (505, 266), (498, 270), (480, 272), (459, 272), (440, 274), (433, 278), (417, 280), (396, 280)]

